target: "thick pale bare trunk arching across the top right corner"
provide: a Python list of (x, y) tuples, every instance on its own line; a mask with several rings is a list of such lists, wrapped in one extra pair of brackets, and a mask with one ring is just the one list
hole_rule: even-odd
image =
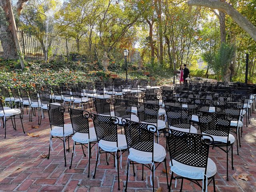
[(218, 9), (230, 16), (242, 29), (244, 29), (248, 34), (256, 41), (256, 26), (254, 26), (248, 19), (246, 19), (242, 14), (235, 10), (232, 6), (226, 2), (221, 2), (218, 0), (189, 0), (189, 6), (203, 6), (211, 9)]

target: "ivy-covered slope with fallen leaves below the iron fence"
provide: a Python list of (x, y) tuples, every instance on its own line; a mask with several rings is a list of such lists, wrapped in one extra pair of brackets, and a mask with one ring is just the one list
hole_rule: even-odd
[[(137, 65), (130, 64), (128, 67), (128, 78), (148, 79), (144, 72), (137, 72)], [(111, 74), (117, 74), (120, 78), (125, 78), (124, 66), (111, 63), (108, 67)], [(171, 71), (150, 72), (152, 78), (158, 84), (168, 84), (172, 82)], [(58, 85), (62, 82), (77, 83), (94, 80), (105, 80), (110, 77), (109, 73), (102, 70), (99, 63), (84, 64), (81, 62), (69, 61), (27, 61), (26, 68), (20, 69), (17, 60), (3, 60), (0, 58), (0, 86), (32, 87), (35, 84)]]

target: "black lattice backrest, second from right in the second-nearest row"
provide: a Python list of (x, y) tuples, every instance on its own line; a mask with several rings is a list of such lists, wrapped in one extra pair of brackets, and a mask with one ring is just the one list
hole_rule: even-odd
[(168, 126), (190, 129), (192, 115), (195, 110), (184, 107), (164, 106)]

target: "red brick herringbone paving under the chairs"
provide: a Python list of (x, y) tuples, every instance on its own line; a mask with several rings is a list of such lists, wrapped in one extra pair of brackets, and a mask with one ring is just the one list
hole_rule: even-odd
[[(66, 110), (67, 113), (67, 110)], [(65, 116), (66, 123), (70, 122), (68, 114)], [(220, 149), (211, 149), (210, 158), (217, 165), (215, 176), (216, 190), (220, 192), (253, 192), (256, 191), (256, 114), (252, 114), (252, 123), (246, 127), (242, 136), (242, 148), (240, 155), (236, 155), (234, 146), (234, 170), (229, 167), (229, 181), (226, 181), (226, 154)], [(19, 122), (19, 120), (17, 120)], [(100, 158), (95, 179), (87, 178), (88, 157), (84, 157), (82, 148), (76, 146), (76, 156), (73, 158), (72, 169), (69, 169), (71, 151), (67, 152), (67, 167), (64, 167), (63, 145), (59, 139), (53, 139), (53, 151), (50, 159), (42, 158), (42, 154), (48, 154), (49, 147), (49, 119), (48, 115), (42, 120), (41, 126), (37, 128), (37, 117), (33, 122), (28, 121), (28, 115), (23, 119), (26, 134), (23, 134), (20, 123), (17, 131), (14, 131), (11, 122), (7, 124), (7, 138), (4, 139), (4, 130), (0, 128), (0, 191), (77, 191), (77, 192), (112, 192), (118, 191), (117, 172), (114, 168), (112, 156), (108, 156), (109, 165), (106, 165), (104, 155)], [(92, 124), (92, 122), (90, 122)], [(34, 127), (34, 128), (33, 128)], [(28, 136), (27, 133), (39, 134), (39, 137)], [(165, 146), (165, 138), (160, 137), (160, 143)], [(68, 146), (66, 145), (66, 148)], [(70, 143), (72, 149), (72, 142)], [(92, 150), (90, 172), (94, 171), (96, 155)], [(87, 150), (85, 152), (87, 154)], [(231, 153), (230, 153), (231, 154)], [(169, 154), (167, 154), (169, 161)], [(121, 191), (124, 190), (126, 180), (127, 153), (122, 156), (122, 167), (120, 170)], [(230, 158), (231, 160), (231, 158)], [(132, 168), (132, 167), (131, 167)], [(135, 166), (136, 176), (130, 172), (128, 192), (151, 192), (150, 172), (144, 174), (141, 180), (142, 166)], [(131, 169), (132, 170), (132, 169)], [(164, 166), (161, 165), (155, 172), (155, 186), (158, 192), (166, 192), (167, 184), (164, 174)], [(242, 180), (245, 178), (246, 180)], [(179, 191), (180, 183), (172, 191)], [(189, 181), (185, 181), (183, 191), (200, 191)], [(212, 186), (208, 192), (213, 191)]]

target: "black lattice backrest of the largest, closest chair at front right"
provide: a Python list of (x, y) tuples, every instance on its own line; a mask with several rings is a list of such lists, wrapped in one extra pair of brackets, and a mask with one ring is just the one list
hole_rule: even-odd
[[(169, 149), (171, 164), (173, 160), (185, 165), (205, 168), (206, 174), (209, 145), (214, 141), (211, 136), (204, 138), (203, 134), (181, 132), (178, 130), (164, 130), (166, 143)], [(212, 141), (209, 141), (211, 138)]]

